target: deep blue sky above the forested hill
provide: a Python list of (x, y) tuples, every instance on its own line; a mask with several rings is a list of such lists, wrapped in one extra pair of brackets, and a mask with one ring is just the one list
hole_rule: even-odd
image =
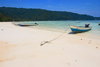
[(0, 0), (0, 7), (67, 11), (100, 17), (100, 0)]

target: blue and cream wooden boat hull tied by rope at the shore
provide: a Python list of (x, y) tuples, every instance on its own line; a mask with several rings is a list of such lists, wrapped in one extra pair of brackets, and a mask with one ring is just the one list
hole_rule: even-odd
[(85, 27), (85, 26), (72, 26), (72, 25), (69, 25), (72, 32), (74, 33), (77, 33), (77, 32), (86, 32), (86, 31), (89, 31), (91, 30), (92, 27)]

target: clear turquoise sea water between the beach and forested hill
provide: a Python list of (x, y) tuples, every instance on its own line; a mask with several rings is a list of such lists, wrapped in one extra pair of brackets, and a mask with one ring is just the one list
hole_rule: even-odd
[(48, 29), (48, 30), (57, 30), (57, 31), (65, 31), (67, 30), (69, 33), (71, 32), (68, 25), (75, 26), (84, 26), (86, 23), (90, 23), (90, 27), (92, 30), (80, 34), (88, 34), (95, 35), (100, 37), (100, 26), (98, 26), (100, 20), (82, 20), (82, 21), (26, 21), (26, 22), (18, 22), (25, 24), (34, 24), (38, 23), (37, 26), (31, 26), (32, 28), (40, 28), (40, 29)]

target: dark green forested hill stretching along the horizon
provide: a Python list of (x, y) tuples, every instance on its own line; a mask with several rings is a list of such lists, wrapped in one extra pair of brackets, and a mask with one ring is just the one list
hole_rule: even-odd
[(44, 9), (0, 7), (0, 21), (100, 20), (86, 14)]

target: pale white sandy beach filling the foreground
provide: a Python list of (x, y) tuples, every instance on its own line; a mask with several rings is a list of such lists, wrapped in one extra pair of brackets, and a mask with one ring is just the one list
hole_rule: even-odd
[(0, 67), (100, 67), (100, 37), (0, 22)]

